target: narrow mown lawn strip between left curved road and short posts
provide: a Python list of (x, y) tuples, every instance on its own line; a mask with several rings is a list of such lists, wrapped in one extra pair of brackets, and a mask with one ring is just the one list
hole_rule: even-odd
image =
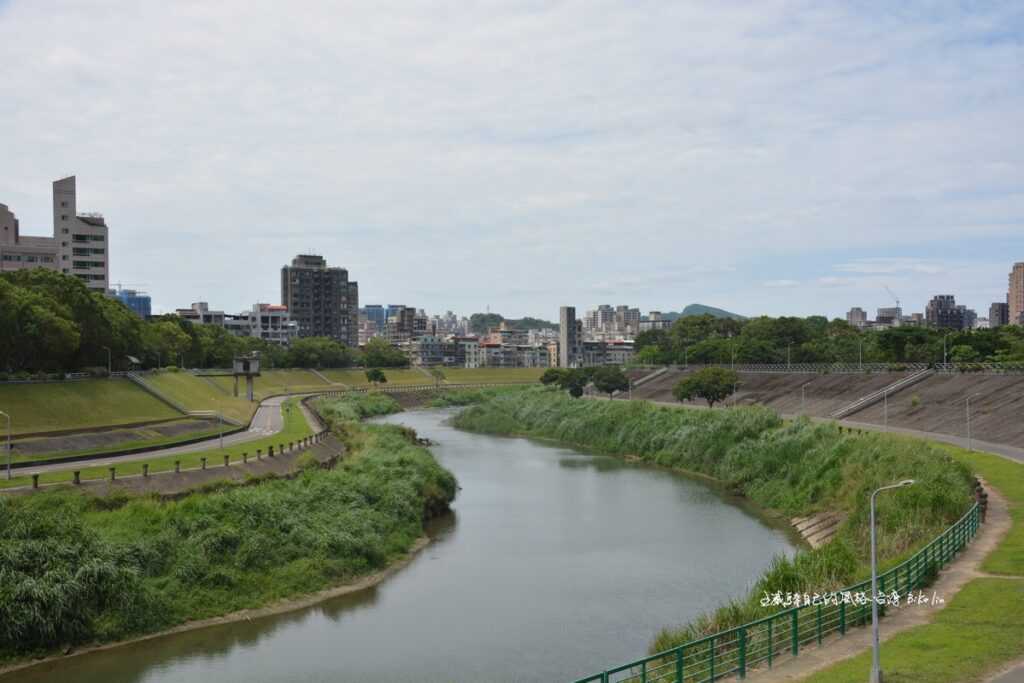
[[(224, 449), (209, 449), (207, 451), (197, 451), (195, 453), (178, 454), (166, 456), (164, 458), (119, 463), (117, 465), (118, 476), (141, 474), (143, 463), (147, 463), (150, 465), (150, 472), (156, 473), (173, 471), (175, 461), (181, 461), (181, 469), (199, 467), (201, 459), (204, 457), (207, 458), (207, 467), (223, 467), (225, 455), (229, 456), (230, 462), (238, 462), (242, 460), (243, 453), (248, 453), (250, 458), (255, 458), (256, 449), (261, 449), (264, 457), (266, 457), (267, 446), (272, 445), (274, 451), (276, 451), (278, 446), (282, 443), (287, 446), (289, 441), (296, 441), (304, 436), (312, 434), (312, 430), (309, 428), (306, 419), (303, 417), (302, 411), (298, 408), (298, 398), (290, 398), (285, 401), (285, 407), (287, 408), (287, 412), (285, 414), (285, 428), (273, 436), (267, 436), (247, 441), (245, 443), (227, 445)], [(87, 467), (86, 464), (83, 463), (81, 472), (83, 480), (104, 479), (110, 476), (110, 469), (105, 465), (101, 467)], [(61, 472), (46, 472), (39, 476), (39, 482), (40, 484), (56, 483), (61, 481), (71, 481), (73, 478), (74, 475), (71, 470)], [(0, 488), (31, 484), (31, 469), (28, 474), (16, 476), (10, 481), (0, 479)]]

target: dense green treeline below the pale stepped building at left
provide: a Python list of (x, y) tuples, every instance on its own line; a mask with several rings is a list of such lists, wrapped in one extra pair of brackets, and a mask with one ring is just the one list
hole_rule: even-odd
[(89, 291), (76, 278), (35, 268), (0, 275), (0, 373), (59, 373), (88, 368), (185, 366), (226, 368), (241, 353), (259, 351), (266, 368), (402, 367), (409, 360), (383, 340), (362, 351), (311, 337), (285, 348), (236, 337), (176, 315), (142, 321), (124, 304)]

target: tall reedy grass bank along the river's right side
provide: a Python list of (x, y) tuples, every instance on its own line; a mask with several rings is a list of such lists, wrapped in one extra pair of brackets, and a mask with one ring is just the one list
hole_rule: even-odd
[(830, 424), (783, 422), (761, 408), (686, 411), (644, 402), (578, 400), (531, 389), (471, 405), (457, 427), (556, 439), (591, 451), (710, 476), (762, 508), (786, 517), (818, 511), (847, 515), (818, 550), (777, 558), (748, 596), (652, 643), (662, 651), (766, 613), (763, 591), (820, 592), (853, 583), (867, 557), (870, 492), (904, 478), (914, 486), (883, 497), (880, 556), (895, 563), (955, 521), (970, 506), (972, 476), (947, 453), (923, 441), (850, 434)]

